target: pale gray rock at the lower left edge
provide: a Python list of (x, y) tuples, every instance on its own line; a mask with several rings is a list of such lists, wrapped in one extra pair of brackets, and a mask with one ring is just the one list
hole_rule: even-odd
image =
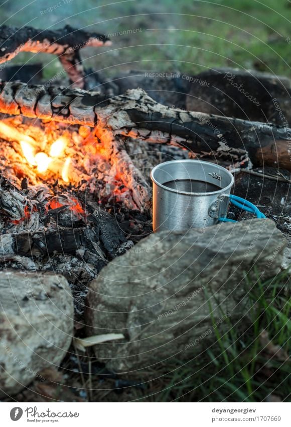
[(73, 335), (73, 298), (61, 275), (0, 272), (0, 396), (59, 366)]

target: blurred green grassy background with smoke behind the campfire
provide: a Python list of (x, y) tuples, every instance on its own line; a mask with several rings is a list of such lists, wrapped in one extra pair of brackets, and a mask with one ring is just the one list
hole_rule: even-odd
[[(291, 76), (288, 0), (105, 3), (8, 0), (1, 6), (1, 25), (56, 29), (69, 24), (111, 35), (111, 47), (81, 52), (86, 67), (103, 70), (108, 76), (128, 69), (196, 74), (209, 67), (225, 66)], [(47, 79), (61, 69), (53, 55), (21, 53), (12, 64), (24, 62), (42, 62)]]

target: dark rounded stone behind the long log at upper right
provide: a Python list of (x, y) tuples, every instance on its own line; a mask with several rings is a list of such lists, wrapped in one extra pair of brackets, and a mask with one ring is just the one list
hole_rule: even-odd
[(193, 83), (186, 98), (187, 110), (278, 126), (290, 123), (291, 80), (287, 77), (217, 68), (201, 72)]

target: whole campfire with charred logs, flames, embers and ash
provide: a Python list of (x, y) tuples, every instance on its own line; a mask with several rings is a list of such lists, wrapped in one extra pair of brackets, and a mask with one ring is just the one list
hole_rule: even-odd
[(70, 78), (67, 88), (0, 81), (0, 260), (8, 267), (53, 270), (82, 293), (108, 261), (152, 231), (150, 170), (163, 160), (199, 154), (233, 170), (290, 168), (289, 131), (280, 126), (96, 85), (79, 50), (104, 44), (100, 34), (28, 28), (12, 43), (14, 30), (5, 31), (0, 62), (20, 51), (56, 53)]

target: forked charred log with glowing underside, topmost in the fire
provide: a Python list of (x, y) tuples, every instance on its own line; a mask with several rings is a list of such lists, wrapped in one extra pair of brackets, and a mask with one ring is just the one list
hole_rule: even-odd
[(60, 30), (37, 30), (32, 27), (0, 27), (0, 63), (10, 61), (19, 52), (52, 53), (60, 59), (72, 86), (85, 87), (85, 70), (80, 58), (80, 49), (98, 47), (111, 42), (99, 33), (87, 33), (66, 25)]

